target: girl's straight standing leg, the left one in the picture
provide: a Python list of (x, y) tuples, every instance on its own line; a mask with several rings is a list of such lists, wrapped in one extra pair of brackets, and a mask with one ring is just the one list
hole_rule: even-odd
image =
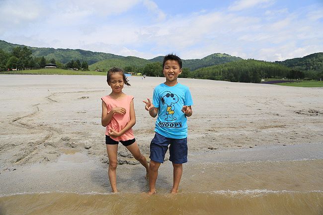
[(110, 145), (106, 144), (106, 151), (108, 152), (108, 158), (109, 158), (109, 170), (108, 170), (108, 176), (112, 188), (112, 193), (117, 193), (117, 164), (118, 164), (118, 158), (117, 158), (117, 152), (118, 152), (118, 144)]

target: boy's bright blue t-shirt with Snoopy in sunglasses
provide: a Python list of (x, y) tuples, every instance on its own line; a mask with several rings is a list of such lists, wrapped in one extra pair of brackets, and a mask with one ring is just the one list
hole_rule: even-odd
[(189, 88), (180, 83), (174, 86), (161, 83), (154, 89), (153, 104), (159, 108), (155, 132), (166, 138), (186, 138), (187, 119), (182, 108), (193, 105)]

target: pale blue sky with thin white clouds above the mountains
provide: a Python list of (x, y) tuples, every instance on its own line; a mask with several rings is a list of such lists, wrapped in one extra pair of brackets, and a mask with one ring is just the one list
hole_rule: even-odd
[(323, 0), (0, 0), (0, 40), (152, 59), (323, 52)]

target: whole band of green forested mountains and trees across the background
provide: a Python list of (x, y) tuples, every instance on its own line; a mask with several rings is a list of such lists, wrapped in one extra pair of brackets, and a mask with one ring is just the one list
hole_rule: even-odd
[[(61, 69), (107, 71), (119, 67), (125, 72), (162, 75), (163, 56), (146, 60), (84, 50), (35, 48), (0, 40), (0, 71), (41, 69), (56, 64)], [(317, 79), (323, 78), (323, 53), (283, 62), (243, 60), (216, 53), (202, 59), (182, 60), (181, 77), (260, 82), (261, 78)], [(92, 62), (95, 62), (91, 64)], [(91, 64), (91, 65), (90, 65)], [(88, 66), (90, 65), (90, 66)]]

